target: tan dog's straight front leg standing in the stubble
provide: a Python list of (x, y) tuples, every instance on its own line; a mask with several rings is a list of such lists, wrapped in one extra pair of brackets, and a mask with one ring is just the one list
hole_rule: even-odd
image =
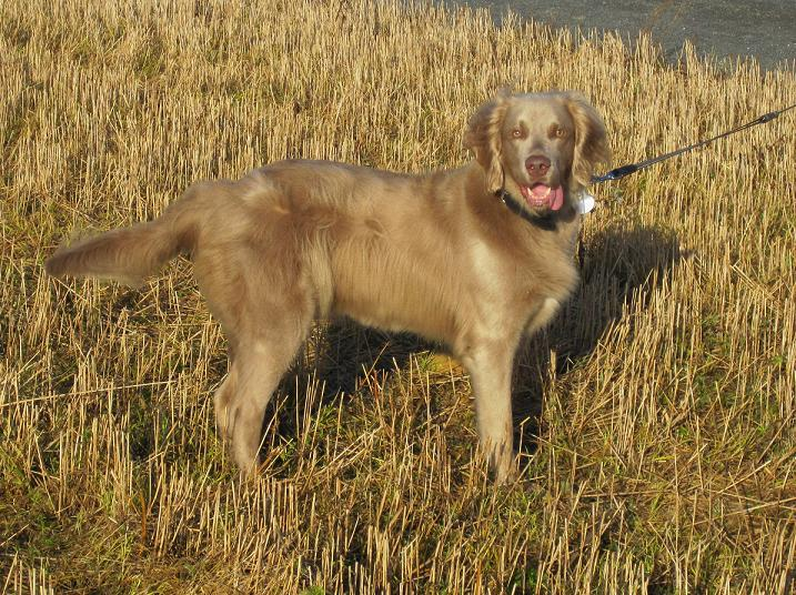
[(515, 474), (512, 427), (513, 350), (505, 344), (481, 345), (463, 357), (475, 396), (478, 440), (495, 482)]

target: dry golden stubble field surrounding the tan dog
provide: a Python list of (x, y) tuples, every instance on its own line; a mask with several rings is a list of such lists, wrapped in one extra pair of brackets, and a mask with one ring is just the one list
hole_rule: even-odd
[(513, 487), (473, 463), (455, 362), (346, 324), (319, 326), (242, 487), (190, 265), (141, 291), (41, 266), (285, 157), (461, 163), (506, 82), (582, 90), (623, 163), (793, 102), (793, 72), (429, 7), (118, 4), (0, 2), (4, 591), (794, 589), (793, 113), (597, 189), (625, 202), (587, 220), (583, 285), (518, 364), (517, 424), (543, 406)]

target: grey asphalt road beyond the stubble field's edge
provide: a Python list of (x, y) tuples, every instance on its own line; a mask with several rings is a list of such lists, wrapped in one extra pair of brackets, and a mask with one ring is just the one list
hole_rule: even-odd
[(573, 30), (615, 30), (623, 39), (649, 31), (668, 60), (685, 40), (718, 59), (753, 57), (770, 70), (796, 70), (796, 0), (449, 0), (487, 7), (496, 20), (506, 8), (521, 17)]

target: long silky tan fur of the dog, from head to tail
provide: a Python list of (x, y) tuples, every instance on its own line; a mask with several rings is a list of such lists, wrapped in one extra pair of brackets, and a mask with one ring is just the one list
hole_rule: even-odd
[[(215, 414), (245, 472), (313, 319), (342, 314), (450, 346), (471, 374), (482, 446), (504, 481), (514, 354), (577, 282), (574, 202), (608, 149), (599, 115), (574, 93), (500, 94), (473, 115), (465, 144), (473, 162), (424, 175), (283, 161), (201, 182), (157, 220), (62, 248), (46, 268), (134, 285), (190, 254), (229, 340)], [(538, 158), (548, 170), (533, 169)], [(537, 182), (562, 188), (563, 206), (532, 203)]]

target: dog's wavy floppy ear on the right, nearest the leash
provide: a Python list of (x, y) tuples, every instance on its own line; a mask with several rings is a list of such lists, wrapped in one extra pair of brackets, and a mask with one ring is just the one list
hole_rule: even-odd
[(566, 94), (566, 107), (575, 123), (575, 155), (572, 175), (582, 185), (592, 181), (595, 165), (611, 160), (611, 149), (605, 124), (595, 110), (580, 93)]

